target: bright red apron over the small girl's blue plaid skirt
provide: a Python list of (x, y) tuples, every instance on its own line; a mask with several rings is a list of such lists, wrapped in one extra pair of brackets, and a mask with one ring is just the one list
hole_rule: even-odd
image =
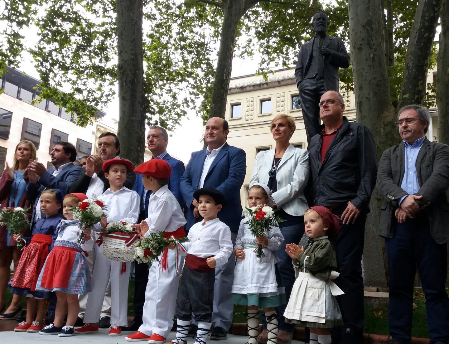
[(55, 246), (48, 255), (40, 285), (45, 289), (67, 289), (76, 252), (76, 248)]

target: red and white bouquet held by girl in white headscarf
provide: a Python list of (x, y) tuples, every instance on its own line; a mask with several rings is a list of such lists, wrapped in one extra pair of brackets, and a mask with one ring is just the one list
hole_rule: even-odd
[[(249, 226), (251, 234), (255, 237), (266, 236), (272, 226), (277, 226), (279, 222), (284, 221), (279, 216), (274, 215), (272, 207), (265, 204), (245, 208), (242, 215), (249, 217), (244, 224)], [(262, 258), (263, 256), (265, 256), (263, 245), (257, 245), (256, 257)]]

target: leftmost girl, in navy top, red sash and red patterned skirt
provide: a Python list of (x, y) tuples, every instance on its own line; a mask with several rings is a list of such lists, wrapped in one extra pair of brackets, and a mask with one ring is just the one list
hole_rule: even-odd
[(63, 196), (63, 191), (57, 189), (44, 190), (40, 196), (40, 211), (45, 217), (33, 227), (31, 243), (22, 252), (11, 284), (13, 294), (27, 297), (26, 321), (14, 329), (16, 332), (39, 332), (43, 327), (44, 305), (49, 295), (48, 292), (36, 290), (36, 283), (45, 259), (53, 248), (57, 225), (64, 219), (59, 214)]

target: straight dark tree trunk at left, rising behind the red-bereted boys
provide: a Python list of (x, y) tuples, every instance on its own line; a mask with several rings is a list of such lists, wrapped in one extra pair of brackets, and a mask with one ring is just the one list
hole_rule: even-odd
[(145, 154), (143, 90), (142, 0), (117, 0), (117, 76), (119, 81), (120, 156), (137, 165)]

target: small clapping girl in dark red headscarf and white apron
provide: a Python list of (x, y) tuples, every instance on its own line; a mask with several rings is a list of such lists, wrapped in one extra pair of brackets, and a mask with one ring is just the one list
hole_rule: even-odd
[(343, 291), (332, 282), (339, 273), (335, 249), (328, 236), (339, 232), (339, 218), (326, 207), (311, 207), (304, 213), (306, 248), (286, 245), (286, 252), (299, 269), (284, 316), (287, 321), (310, 328), (310, 344), (330, 344), (329, 328), (343, 325), (335, 295)]

